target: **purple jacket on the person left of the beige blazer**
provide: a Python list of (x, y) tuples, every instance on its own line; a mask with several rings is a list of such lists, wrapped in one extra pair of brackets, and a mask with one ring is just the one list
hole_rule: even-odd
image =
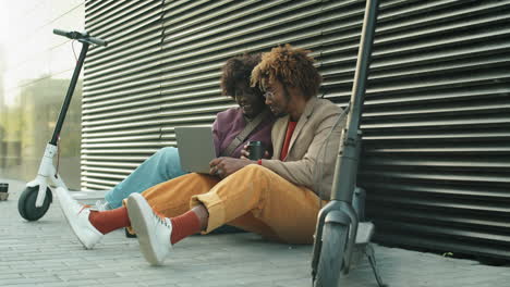
[[(231, 154), (232, 158), (240, 158), (241, 150), (244, 145), (247, 145), (248, 141), (259, 140), (266, 147), (266, 150), (269, 151), (269, 154), (272, 154), (272, 145), (271, 145), (271, 128), (275, 123), (275, 116), (272, 113), (267, 118), (264, 118), (260, 124), (250, 134), (246, 140), (240, 145)], [(231, 108), (227, 111), (220, 112), (216, 115), (216, 121), (212, 124), (212, 137), (215, 140), (216, 155), (219, 155), (221, 151), (227, 149), (227, 147), (232, 142), (232, 140), (238, 136), (246, 126), (246, 120), (244, 120), (243, 111), (241, 108)]]

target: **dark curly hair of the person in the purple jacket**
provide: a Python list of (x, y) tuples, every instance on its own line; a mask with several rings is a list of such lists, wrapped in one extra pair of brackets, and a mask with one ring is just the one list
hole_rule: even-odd
[[(244, 53), (239, 57), (229, 59), (221, 68), (221, 93), (235, 99), (235, 85), (245, 83), (250, 87), (250, 78), (253, 68), (260, 62), (260, 54)], [(262, 91), (258, 88), (254, 89), (262, 97)]]

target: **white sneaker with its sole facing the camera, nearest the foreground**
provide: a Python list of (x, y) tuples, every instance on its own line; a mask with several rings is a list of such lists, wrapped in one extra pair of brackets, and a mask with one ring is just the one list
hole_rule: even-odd
[(170, 219), (156, 214), (139, 194), (131, 194), (126, 205), (131, 225), (136, 232), (145, 260), (150, 265), (161, 265), (172, 250)]

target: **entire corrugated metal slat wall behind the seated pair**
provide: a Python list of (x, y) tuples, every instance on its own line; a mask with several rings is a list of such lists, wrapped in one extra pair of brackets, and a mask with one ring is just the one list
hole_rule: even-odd
[[(312, 49), (321, 95), (350, 97), (364, 1), (88, 1), (110, 41), (85, 64), (82, 187), (110, 188), (233, 105), (221, 64)], [(510, 1), (381, 1), (361, 185), (377, 239), (510, 259)]]

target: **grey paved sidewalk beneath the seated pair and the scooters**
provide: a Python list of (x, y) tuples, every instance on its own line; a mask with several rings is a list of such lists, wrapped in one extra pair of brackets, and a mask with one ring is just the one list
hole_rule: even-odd
[[(48, 213), (26, 222), (17, 213), (24, 183), (10, 184), (0, 201), (0, 286), (312, 286), (311, 246), (267, 242), (253, 234), (192, 236), (179, 242), (163, 266), (151, 267), (136, 239), (123, 230), (85, 250), (53, 198)], [(375, 246), (391, 287), (506, 287), (510, 269)], [(366, 260), (343, 286), (376, 287)]]

